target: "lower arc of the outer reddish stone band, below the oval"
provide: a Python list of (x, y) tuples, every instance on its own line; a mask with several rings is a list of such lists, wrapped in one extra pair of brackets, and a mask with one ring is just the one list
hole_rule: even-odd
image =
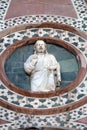
[(62, 112), (68, 112), (68, 111), (71, 111), (73, 109), (80, 107), (81, 105), (84, 105), (85, 103), (87, 103), (87, 97), (81, 99), (80, 101), (77, 101), (72, 104), (62, 106), (62, 107), (58, 107), (58, 108), (48, 108), (48, 109), (32, 109), (31, 108), (29, 109), (29, 108), (19, 107), (19, 106), (0, 100), (0, 105), (2, 107), (5, 107), (17, 113), (24, 113), (24, 114), (30, 114), (30, 115), (51, 115), (55, 113), (58, 114)]

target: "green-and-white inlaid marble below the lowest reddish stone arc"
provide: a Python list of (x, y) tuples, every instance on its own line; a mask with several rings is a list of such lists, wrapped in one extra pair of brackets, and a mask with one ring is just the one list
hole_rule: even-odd
[[(6, 108), (0, 107), (0, 117), (8, 119), (9, 124), (0, 125), (0, 128), (8, 130), (11, 127), (12, 129), (16, 128), (28, 128), (32, 126), (37, 127), (63, 127), (63, 128), (73, 128), (76, 129), (86, 129), (87, 125), (83, 123), (78, 123), (77, 120), (87, 116), (87, 105), (83, 105), (79, 108), (76, 108), (70, 112), (64, 112), (60, 114), (52, 115), (28, 115), (22, 113), (16, 113), (14, 111), (8, 110)], [(5, 116), (6, 115), (6, 116)], [(67, 121), (68, 119), (68, 121)]]

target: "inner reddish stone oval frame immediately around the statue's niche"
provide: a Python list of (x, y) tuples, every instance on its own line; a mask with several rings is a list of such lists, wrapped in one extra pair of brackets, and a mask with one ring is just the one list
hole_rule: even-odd
[[(49, 92), (32, 92), (32, 91), (26, 91), (24, 89), (18, 88), (17, 86), (15, 86), (11, 81), (9, 81), (8, 77), (6, 76), (5, 73), (5, 62), (6, 59), (9, 58), (9, 56), (16, 51), (16, 49), (21, 48), (23, 46), (26, 45), (30, 45), (35, 43), (37, 40), (44, 40), (47, 43), (53, 43), (55, 45), (60, 45), (63, 48), (65, 48), (66, 50), (68, 50), (69, 52), (73, 53), (78, 61), (78, 64), (80, 64), (80, 70), (78, 72), (78, 75), (76, 77), (76, 79), (71, 82), (69, 85), (65, 86), (64, 88), (60, 88), (59, 90), (55, 90), (55, 91), (49, 91)], [(76, 88), (84, 79), (85, 75), (86, 75), (86, 60), (85, 57), (82, 55), (82, 53), (80, 52), (80, 50), (78, 50), (76, 47), (74, 47), (72, 44), (65, 42), (63, 40), (60, 39), (55, 39), (55, 38), (51, 38), (51, 37), (36, 37), (36, 38), (29, 38), (29, 39), (25, 39), (25, 40), (20, 40), (12, 45), (10, 45), (9, 47), (7, 47), (7, 49), (1, 54), (0, 56), (0, 78), (1, 81), (12, 91), (22, 94), (23, 96), (29, 96), (29, 97), (38, 97), (38, 98), (49, 98), (49, 97), (53, 97), (53, 96), (58, 96), (61, 95), (63, 93), (66, 93), (74, 88)]]

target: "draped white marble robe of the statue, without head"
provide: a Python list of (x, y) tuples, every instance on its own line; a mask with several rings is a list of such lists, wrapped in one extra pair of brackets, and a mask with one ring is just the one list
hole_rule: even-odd
[[(61, 81), (60, 65), (51, 54), (37, 54), (37, 63), (33, 65), (31, 55), (24, 63), (25, 71), (31, 77), (31, 91), (55, 90), (56, 83)], [(49, 70), (48, 67), (54, 67)]]

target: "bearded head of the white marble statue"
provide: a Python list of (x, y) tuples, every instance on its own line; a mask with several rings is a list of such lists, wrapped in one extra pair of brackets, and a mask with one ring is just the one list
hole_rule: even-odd
[(36, 53), (46, 53), (46, 43), (43, 40), (37, 40), (34, 49)]

